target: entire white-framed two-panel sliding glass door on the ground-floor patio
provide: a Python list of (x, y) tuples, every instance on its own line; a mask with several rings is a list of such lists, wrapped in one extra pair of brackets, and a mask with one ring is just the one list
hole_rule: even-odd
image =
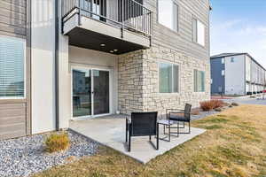
[(109, 71), (72, 70), (73, 117), (89, 117), (110, 113)]

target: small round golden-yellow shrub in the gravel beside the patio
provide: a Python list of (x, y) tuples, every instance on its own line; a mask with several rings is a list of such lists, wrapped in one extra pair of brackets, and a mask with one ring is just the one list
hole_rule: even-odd
[(66, 150), (69, 147), (69, 137), (64, 134), (52, 134), (45, 141), (45, 150), (52, 153), (59, 150)]

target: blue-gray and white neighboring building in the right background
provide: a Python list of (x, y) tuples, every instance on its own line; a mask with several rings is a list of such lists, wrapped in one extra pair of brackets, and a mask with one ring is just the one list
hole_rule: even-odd
[(211, 93), (251, 95), (266, 87), (266, 70), (248, 53), (222, 53), (211, 57)]

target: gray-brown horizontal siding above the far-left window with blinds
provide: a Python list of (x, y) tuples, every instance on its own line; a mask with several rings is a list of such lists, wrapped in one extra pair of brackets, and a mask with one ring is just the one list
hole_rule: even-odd
[(0, 1), (0, 35), (25, 38), (27, 7), (26, 0)]

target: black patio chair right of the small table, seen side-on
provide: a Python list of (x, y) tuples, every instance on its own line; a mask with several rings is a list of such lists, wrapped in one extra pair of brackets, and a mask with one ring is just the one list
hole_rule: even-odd
[(190, 134), (191, 133), (191, 112), (192, 112), (192, 104), (185, 104), (184, 110), (167, 109), (166, 110), (167, 119), (177, 122), (177, 127), (170, 127), (170, 128), (178, 128), (178, 129), (184, 128), (184, 127), (179, 127), (179, 122), (183, 122), (183, 123), (187, 122), (189, 125), (189, 132), (177, 131), (177, 134)]

